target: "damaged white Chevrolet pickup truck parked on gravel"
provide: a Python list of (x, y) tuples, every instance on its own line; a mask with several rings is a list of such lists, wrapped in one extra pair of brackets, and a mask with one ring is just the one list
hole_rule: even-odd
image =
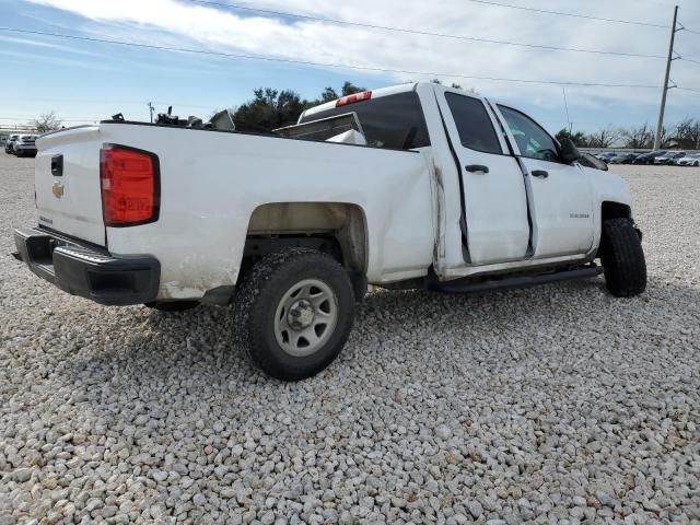
[[(314, 140), (338, 118), (355, 122), (351, 140)], [(38, 226), (15, 231), (18, 258), (102, 304), (233, 303), (252, 360), (282, 380), (336, 358), (368, 282), (646, 285), (626, 182), (460, 90), (368, 91), (271, 136), (118, 119), (37, 147)]]

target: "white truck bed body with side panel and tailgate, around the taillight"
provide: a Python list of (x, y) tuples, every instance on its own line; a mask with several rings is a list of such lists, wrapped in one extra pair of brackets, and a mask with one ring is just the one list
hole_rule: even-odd
[[(235, 284), (250, 218), (270, 202), (359, 207), (373, 224), (370, 281), (422, 275), (432, 260), (434, 226), (424, 220), (434, 217), (428, 152), (114, 120), (48, 133), (37, 144), (39, 225), (114, 255), (154, 256), (161, 264), (158, 299), (197, 299)], [(104, 144), (158, 156), (158, 221), (105, 226)]]

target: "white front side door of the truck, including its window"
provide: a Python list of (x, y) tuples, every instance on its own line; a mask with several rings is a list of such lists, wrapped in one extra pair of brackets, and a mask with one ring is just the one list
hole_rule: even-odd
[(588, 178), (559, 159), (555, 139), (517, 109), (498, 105), (515, 153), (527, 171), (534, 258), (585, 254), (593, 245), (594, 210)]

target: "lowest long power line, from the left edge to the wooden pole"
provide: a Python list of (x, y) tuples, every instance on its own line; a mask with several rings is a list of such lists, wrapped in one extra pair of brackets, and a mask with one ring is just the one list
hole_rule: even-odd
[(114, 44), (119, 46), (129, 46), (129, 47), (139, 47), (145, 49), (158, 49), (163, 51), (176, 51), (176, 52), (191, 52), (196, 55), (208, 55), (208, 56), (218, 56), (225, 58), (240, 58), (245, 60), (264, 60), (268, 62), (280, 62), (280, 63), (292, 63), (300, 66), (313, 66), (320, 68), (340, 68), (340, 69), (354, 69), (359, 71), (378, 71), (384, 73), (402, 73), (402, 74), (420, 74), (427, 77), (447, 77), (447, 78), (457, 78), (457, 79), (470, 79), (470, 80), (487, 80), (493, 82), (515, 82), (515, 83), (525, 83), (525, 84), (549, 84), (549, 85), (578, 85), (582, 88), (627, 88), (627, 89), (658, 89), (658, 85), (648, 85), (648, 84), (611, 84), (611, 83), (599, 83), (599, 82), (568, 82), (568, 81), (553, 81), (553, 80), (534, 80), (534, 79), (512, 79), (512, 78), (499, 78), (499, 77), (479, 77), (474, 74), (462, 74), (462, 73), (447, 73), (447, 72), (435, 72), (435, 71), (410, 71), (406, 69), (389, 69), (389, 68), (378, 68), (372, 66), (352, 66), (346, 63), (328, 63), (328, 62), (313, 62), (308, 60), (295, 60), (291, 58), (273, 58), (273, 57), (265, 57), (259, 55), (242, 55), (234, 52), (222, 52), (222, 51), (210, 51), (206, 49), (189, 49), (185, 47), (168, 47), (168, 46), (155, 46), (151, 44), (138, 44), (133, 42), (124, 42), (124, 40), (113, 40), (106, 38), (94, 38), (88, 36), (77, 36), (77, 35), (65, 35), (61, 33), (48, 33), (43, 31), (30, 31), (30, 30), (18, 30), (14, 27), (0, 27), (0, 31), (8, 31), (14, 33), (23, 33), (31, 35), (42, 35), (42, 36), (51, 36), (57, 38), (69, 38), (73, 40), (82, 40), (82, 42), (96, 42), (102, 44)]

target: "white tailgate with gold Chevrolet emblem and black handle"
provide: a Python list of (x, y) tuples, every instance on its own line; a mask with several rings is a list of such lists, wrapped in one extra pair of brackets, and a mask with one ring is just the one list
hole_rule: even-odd
[(97, 126), (48, 133), (36, 141), (36, 208), (43, 226), (105, 245)]

